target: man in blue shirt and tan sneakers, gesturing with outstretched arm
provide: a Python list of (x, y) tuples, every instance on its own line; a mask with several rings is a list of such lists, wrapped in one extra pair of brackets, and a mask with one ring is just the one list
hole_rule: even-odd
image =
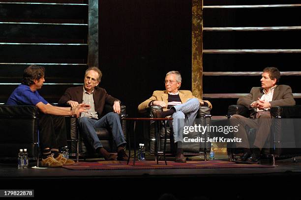
[(50, 105), (38, 93), (44, 79), (45, 68), (38, 65), (30, 65), (24, 70), (22, 84), (10, 95), (7, 105), (36, 106), (39, 113), (39, 140), (42, 147), (42, 166), (60, 167), (72, 165), (73, 160), (64, 158), (59, 153), (59, 148), (67, 145), (66, 126), (63, 115), (79, 116), (81, 112), (87, 112), (90, 106), (80, 104), (76, 108), (61, 108)]

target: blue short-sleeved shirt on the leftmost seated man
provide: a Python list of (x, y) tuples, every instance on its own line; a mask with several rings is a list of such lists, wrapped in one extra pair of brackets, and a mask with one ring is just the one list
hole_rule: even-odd
[(7, 100), (9, 106), (35, 106), (37, 103), (42, 102), (48, 104), (48, 102), (40, 96), (38, 91), (31, 91), (29, 86), (19, 85), (10, 95)]

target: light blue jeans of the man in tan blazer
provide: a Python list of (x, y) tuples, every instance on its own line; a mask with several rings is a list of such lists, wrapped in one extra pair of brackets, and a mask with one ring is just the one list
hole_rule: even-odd
[(200, 108), (200, 102), (197, 98), (192, 98), (183, 104), (174, 106), (174, 108), (176, 112), (172, 115), (172, 124), (175, 143), (183, 142), (183, 127), (193, 124)]

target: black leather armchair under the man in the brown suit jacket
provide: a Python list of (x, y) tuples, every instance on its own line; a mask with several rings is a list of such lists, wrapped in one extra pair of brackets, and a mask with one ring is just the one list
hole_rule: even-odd
[[(234, 114), (240, 114), (245, 117), (250, 116), (249, 109), (242, 105), (231, 105), (228, 108), (228, 118)], [(301, 125), (298, 124), (298, 120), (301, 118), (301, 106), (281, 106), (271, 108), (272, 126), (271, 134), (267, 140), (267, 146), (271, 148), (263, 148), (262, 155), (270, 155), (273, 158), (273, 164), (276, 159), (289, 158), (301, 155)], [(283, 130), (287, 127), (288, 120), (282, 120), (283, 118), (290, 118), (291, 123), (290, 130)], [(256, 130), (247, 130), (249, 141), (253, 141), (255, 138)], [(229, 160), (233, 161), (234, 156), (241, 153), (241, 149), (227, 145), (227, 151)], [(289, 145), (289, 146), (288, 146)]]

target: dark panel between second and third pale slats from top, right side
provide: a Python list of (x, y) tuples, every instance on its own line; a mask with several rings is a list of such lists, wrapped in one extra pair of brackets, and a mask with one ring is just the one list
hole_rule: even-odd
[[(280, 49), (289, 52), (297, 49), (301, 52), (301, 30), (290, 31), (209, 31), (203, 33), (203, 48), (205, 50), (253, 50)], [(281, 39), (279, 39), (281, 38)], [(261, 50), (259, 50), (261, 51)]]

